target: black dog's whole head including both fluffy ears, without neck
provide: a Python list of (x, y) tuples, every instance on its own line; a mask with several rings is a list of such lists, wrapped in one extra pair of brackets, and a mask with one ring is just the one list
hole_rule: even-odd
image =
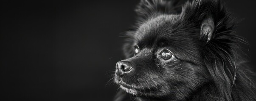
[(141, 0), (137, 6), (138, 21), (124, 45), (127, 59), (115, 71), (115, 82), (127, 93), (186, 98), (214, 81), (210, 63), (223, 55), (219, 51), (231, 51), (231, 19), (218, 0), (189, 0), (181, 10), (173, 1)]

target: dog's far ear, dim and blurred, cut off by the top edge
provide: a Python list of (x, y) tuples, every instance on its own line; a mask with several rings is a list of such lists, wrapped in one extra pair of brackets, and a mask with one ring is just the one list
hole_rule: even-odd
[(160, 14), (181, 12), (181, 5), (186, 0), (141, 0), (135, 11), (140, 20), (156, 17)]

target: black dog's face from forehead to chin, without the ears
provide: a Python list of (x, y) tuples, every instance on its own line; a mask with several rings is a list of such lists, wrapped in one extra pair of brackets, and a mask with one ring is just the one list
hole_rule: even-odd
[(123, 90), (138, 96), (184, 97), (203, 82), (198, 79), (205, 72), (197, 44), (200, 34), (177, 25), (179, 17), (158, 16), (133, 33), (134, 55), (116, 64), (115, 82)]

